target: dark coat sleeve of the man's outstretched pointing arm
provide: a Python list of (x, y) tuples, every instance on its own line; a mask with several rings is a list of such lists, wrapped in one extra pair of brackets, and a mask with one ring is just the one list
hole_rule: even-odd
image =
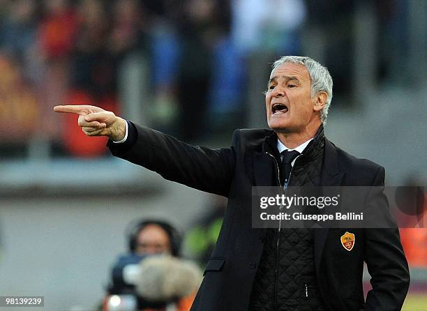
[[(234, 133), (234, 139), (237, 133)], [(129, 135), (128, 144), (107, 144), (112, 155), (146, 167), (167, 180), (228, 196), (234, 174), (234, 147), (209, 149), (191, 146), (133, 123), (129, 123)]]

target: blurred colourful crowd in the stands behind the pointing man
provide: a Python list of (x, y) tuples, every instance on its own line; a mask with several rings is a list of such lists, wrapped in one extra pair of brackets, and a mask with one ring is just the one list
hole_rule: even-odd
[(315, 57), (348, 95), (363, 3), (385, 38), (381, 78), (393, 58), (384, 46), (405, 37), (407, 0), (0, 0), (1, 156), (24, 158), (40, 141), (53, 155), (105, 153), (75, 116), (51, 113), (60, 103), (92, 103), (188, 142), (256, 126), (249, 110), (284, 54)]

